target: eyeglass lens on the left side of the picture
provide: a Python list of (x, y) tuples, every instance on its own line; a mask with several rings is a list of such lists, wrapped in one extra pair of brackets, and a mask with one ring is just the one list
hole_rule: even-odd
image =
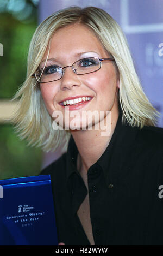
[(52, 82), (62, 77), (62, 69), (58, 66), (49, 66), (36, 71), (37, 81)]

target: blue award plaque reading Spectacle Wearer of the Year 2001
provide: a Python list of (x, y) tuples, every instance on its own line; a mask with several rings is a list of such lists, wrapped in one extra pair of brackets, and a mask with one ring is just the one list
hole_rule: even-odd
[(0, 245), (58, 245), (50, 175), (0, 180)]

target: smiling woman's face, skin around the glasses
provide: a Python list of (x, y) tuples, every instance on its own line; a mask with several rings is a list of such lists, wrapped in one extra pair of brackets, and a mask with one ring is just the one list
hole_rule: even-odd
[[(43, 56), (47, 57), (48, 48)], [(54, 33), (51, 48), (46, 66), (57, 64), (60, 67), (72, 65), (82, 58), (99, 57), (110, 58), (104, 50), (102, 44), (96, 35), (84, 25), (76, 24), (59, 29)], [(40, 68), (43, 68), (43, 62)], [(69, 108), (69, 120), (64, 118), (64, 124), (68, 126), (71, 122), (76, 121), (78, 129), (82, 129), (82, 112), (85, 111), (105, 111), (112, 110), (118, 112), (117, 103), (117, 76), (114, 63), (112, 61), (102, 62), (102, 67), (96, 72), (77, 75), (71, 67), (65, 69), (64, 76), (60, 80), (40, 84), (43, 100), (51, 116), (60, 111), (64, 117), (67, 106), (61, 105), (61, 102), (67, 98), (91, 97), (90, 100), (83, 104), (79, 102)], [(78, 116), (76, 115), (78, 111)], [(80, 120), (79, 120), (80, 117)], [(75, 120), (76, 118), (76, 120)], [(93, 119), (94, 123), (99, 121), (98, 116)], [(86, 126), (89, 124), (87, 121)], [(69, 123), (69, 124), (68, 124)]]

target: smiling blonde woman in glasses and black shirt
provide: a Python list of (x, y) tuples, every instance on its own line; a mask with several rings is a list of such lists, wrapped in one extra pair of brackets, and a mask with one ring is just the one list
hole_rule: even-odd
[(163, 243), (162, 128), (109, 14), (71, 7), (43, 21), (14, 99), (21, 138), (63, 150), (41, 172), (51, 174), (61, 244)]

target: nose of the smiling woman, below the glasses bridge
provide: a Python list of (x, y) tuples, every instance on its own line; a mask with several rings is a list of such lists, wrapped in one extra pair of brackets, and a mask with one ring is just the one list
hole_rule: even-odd
[(72, 66), (66, 66), (63, 69), (63, 76), (61, 81), (61, 90), (71, 90), (73, 86), (80, 86), (80, 79), (77, 74), (73, 72)]

